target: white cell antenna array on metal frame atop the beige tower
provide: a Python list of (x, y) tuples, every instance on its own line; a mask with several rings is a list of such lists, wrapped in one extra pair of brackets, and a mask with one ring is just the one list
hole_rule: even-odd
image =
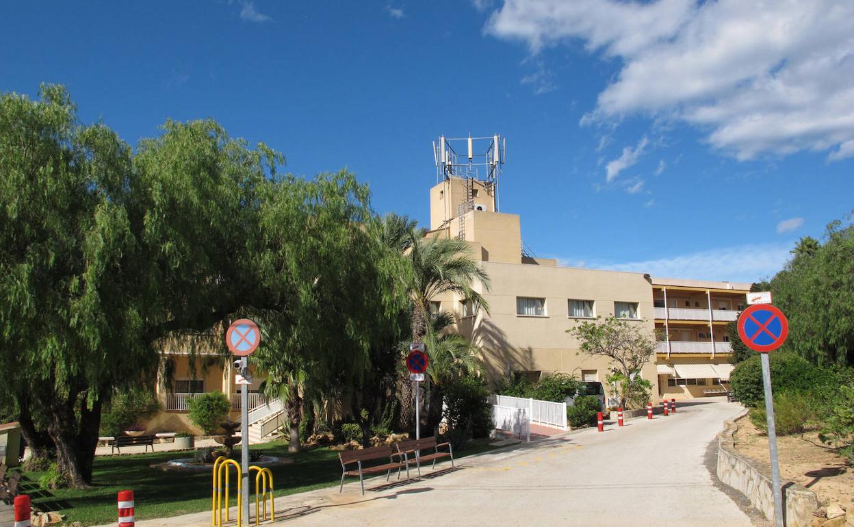
[[(465, 151), (465, 155), (458, 155)], [(506, 162), (507, 139), (498, 133), (483, 138), (446, 138), (439, 136), (433, 142), (433, 161), (436, 164), (436, 183), (451, 178), (464, 179), (467, 187), (471, 180), (483, 182), (483, 187), (494, 197), (495, 212), (498, 212), (498, 179)], [(471, 210), (471, 199), (463, 203)]]

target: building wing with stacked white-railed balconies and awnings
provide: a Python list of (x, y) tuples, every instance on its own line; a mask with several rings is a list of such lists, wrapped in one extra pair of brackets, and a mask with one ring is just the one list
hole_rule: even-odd
[(669, 398), (728, 392), (732, 345), (727, 326), (746, 305), (751, 284), (652, 278), (658, 386)]

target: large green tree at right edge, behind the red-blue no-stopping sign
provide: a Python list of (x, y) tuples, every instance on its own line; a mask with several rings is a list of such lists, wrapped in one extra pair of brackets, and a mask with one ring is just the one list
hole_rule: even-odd
[(834, 221), (824, 243), (804, 237), (771, 280), (789, 321), (787, 349), (818, 365), (854, 366), (854, 225)]

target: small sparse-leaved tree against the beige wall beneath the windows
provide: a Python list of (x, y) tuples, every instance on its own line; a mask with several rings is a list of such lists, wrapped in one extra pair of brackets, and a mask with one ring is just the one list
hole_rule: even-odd
[[(625, 379), (640, 377), (640, 368), (655, 355), (655, 336), (646, 334), (640, 325), (627, 320), (596, 317), (566, 332), (578, 339), (582, 353), (610, 359), (616, 372)], [(621, 407), (630, 407), (629, 403), (635, 404), (643, 398), (635, 396), (635, 392), (643, 388), (638, 383), (624, 382), (619, 387)]]

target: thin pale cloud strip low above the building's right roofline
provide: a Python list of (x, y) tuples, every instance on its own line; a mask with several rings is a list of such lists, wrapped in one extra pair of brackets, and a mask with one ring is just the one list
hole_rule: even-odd
[[(723, 247), (672, 255), (658, 260), (629, 263), (585, 262), (587, 267), (612, 271), (648, 272), (659, 278), (695, 278), (701, 280), (728, 280), (730, 282), (756, 282), (774, 276), (789, 260), (789, 243), (763, 243)], [(560, 265), (570, 261), (559, 259)]]

